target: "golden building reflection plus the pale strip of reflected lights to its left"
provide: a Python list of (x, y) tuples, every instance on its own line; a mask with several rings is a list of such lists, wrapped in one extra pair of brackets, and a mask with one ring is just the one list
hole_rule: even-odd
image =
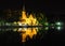
[(27, 36), (30, 39), (36, 36), (39, 28), (9, 28), (9, 29), (0, 29), (0, 31), (15, 31), (18, 32), (20, 35), (22, 36), (22, 42), (26, 42)]

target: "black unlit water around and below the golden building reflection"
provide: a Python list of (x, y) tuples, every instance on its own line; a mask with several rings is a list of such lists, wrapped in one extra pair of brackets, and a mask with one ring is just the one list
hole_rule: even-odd
[[(42, 31), (42, 30), (41, 30)], [(48, 32), (39, 35), (36, 39), (28, 39), (22, 43), (22, 36), (13, 30), (0, 29), (0, 45), (16, 45), (16, 46), (60, 46), (65, 45), (65, 31), (57, 32), (56, 30), (48, 30)]]

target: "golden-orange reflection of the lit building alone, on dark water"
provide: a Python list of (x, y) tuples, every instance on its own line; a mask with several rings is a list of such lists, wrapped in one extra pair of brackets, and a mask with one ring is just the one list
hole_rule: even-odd
[(26, 42), (27, 36), (32, 39), (34, 35), (37, 35), (38, 28), (18, 28), (17, 32), (21, 32), (22, 42)]

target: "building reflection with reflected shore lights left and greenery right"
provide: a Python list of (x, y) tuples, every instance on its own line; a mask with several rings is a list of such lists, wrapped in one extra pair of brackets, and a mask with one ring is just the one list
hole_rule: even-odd
[(41, 29), (40, 27), (36, 27), (36, 28), (5, 28), (5, 29), (0, 29), (0, 33), (3, 31), (8, 31), (8, 32), (17, 32), (20, 33), (20, 36), (21, 36), (21, 41), (22, 42), (26, 42), (28, 41), (29, 39), (34, 39), (35, 40), (37, 39), (37, 36), (39, 36), (38, 34), (40, 34), (40, 32), (42, 32), (42, 30), (39, 30)]

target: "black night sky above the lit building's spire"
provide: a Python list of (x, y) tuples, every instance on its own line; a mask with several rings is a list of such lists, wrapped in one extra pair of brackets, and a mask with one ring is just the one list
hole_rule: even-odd
[(0, 10), (22, 9), (23, 3), (25, 3), (27, 10), (65, 14), (65, 3), (63, 0), (0, 0)]

